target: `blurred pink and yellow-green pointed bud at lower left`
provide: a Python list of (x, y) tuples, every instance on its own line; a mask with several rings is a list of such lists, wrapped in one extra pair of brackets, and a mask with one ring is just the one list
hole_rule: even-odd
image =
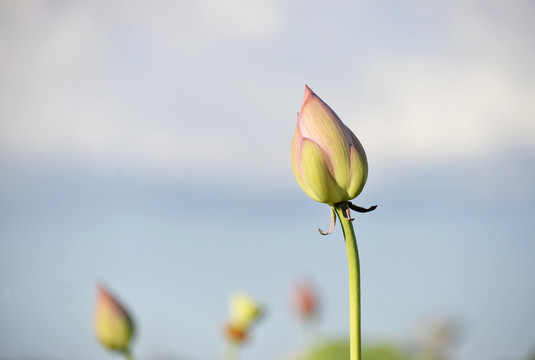
[(134, 334), (134, 323), (125, 308), (102, 285), (97, 287), (95, 332), (109, 350), (128, 353)]

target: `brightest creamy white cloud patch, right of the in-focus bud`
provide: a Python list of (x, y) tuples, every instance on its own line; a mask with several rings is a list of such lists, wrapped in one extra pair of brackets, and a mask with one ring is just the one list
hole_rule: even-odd
[(473, 160), (508, 147), (535, 151), (535, 84), (501, 68), (411, 62), (378, 66), (354, 118), (391, 161)]

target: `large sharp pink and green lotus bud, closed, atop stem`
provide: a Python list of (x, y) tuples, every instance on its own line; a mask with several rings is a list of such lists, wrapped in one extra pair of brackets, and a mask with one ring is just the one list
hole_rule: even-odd
[(306, 85), (291, 161), (303, 191), (329, 205), (355, 198), (368, 177), (368, 162), (360, 141)]

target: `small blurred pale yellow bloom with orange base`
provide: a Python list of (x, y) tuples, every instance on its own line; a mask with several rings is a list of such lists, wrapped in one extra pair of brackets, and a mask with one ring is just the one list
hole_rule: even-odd
[(243, 342), (250, 327), (262, 312), (260, 305), (248, 295), (233, 294), (230, 298), (230, 320), (225, 326), (226, 337), (233, 342)]

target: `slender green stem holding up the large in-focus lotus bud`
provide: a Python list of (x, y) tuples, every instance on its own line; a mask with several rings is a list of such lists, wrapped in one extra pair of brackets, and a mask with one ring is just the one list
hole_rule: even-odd
[(349, 265), (349, 345), (350, 360), (360, 360), (360, 264), (357, 240), (351, 221), (344, 217), (340, 204), (334, 205), (342, 224)]

